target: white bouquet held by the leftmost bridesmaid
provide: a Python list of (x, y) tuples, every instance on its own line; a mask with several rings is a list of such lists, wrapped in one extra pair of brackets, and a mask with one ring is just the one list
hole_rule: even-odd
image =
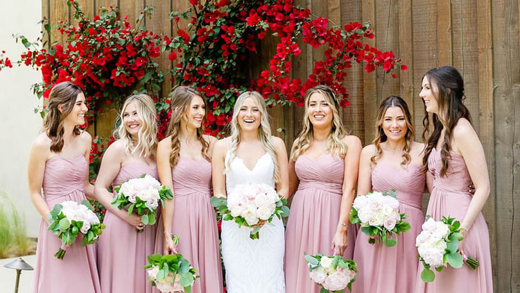
[(59, 260), (63, 259), (67, 247), (76, 241), (79, 234), (83, 235), (81, 246), (94, 244), (105, 228), (87, 200), (81, 203), (63, 201), (56, 204), (49, 214), (49, 221), (49, 230), (62, 240), (62, 246), (54, 254)]

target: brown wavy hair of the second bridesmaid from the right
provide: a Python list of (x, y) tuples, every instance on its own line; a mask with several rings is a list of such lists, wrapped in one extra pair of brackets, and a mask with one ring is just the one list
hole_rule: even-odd
[(379, 110), (377, 110), (377, 119), (376, 119), (376, 137), (372, 140), (372, 144), (376, 146), (376, 154), (370, 158), (370, 162), (372, 165), (376, 164), (376, 160), (381, 156), (383, 150), (381, 149), (381, 142), (385, 142), (388, 140), (388, 137), (385, 135), (385, 131), (383, 130), (383, 122), (385, 120), (385, 112), (388, 108), (399, 107), (403, 110), (404, 120), (406, 121), (406, 134), (404, 135), (404, 148), (403, 148), (403, 161), (401, 162), (402, 166), (408, 165), (410, 162), (410, 146), (412, 144), (413, 138), (415, 137), (415, 128), (412, 125), (412, 116), (410, 115), (410, 110), (408, 109), (408, 105), (404, 99), (401, 97), (390, 96), (384, 99), (379, 106)]

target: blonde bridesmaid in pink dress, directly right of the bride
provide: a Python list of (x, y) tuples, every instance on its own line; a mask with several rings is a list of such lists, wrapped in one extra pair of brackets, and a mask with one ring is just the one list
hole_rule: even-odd
[[(286, 229), (287, 292), (317, 293), (304, 253), (352, 258), (354, 226), (349, 212), (358, 177), (361, 140), (347, 135), (333, 91), (318, 85), (305, 93), (303, 130), (289, 162), (289, 194), (294, 194)], [(349, 234), (347, 235), (347, 228)]]

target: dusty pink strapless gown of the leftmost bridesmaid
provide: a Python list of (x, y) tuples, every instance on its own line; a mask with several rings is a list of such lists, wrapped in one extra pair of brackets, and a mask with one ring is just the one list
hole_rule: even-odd
[[(43, 178), (44, 199), (52, 210), (57, 203), (85, 199), (87, 161), (83, 154), (73, 158), (54, 156), (45, 163)], [(96, 251), (92, 244), (81, 247), (81, 236), (76, 239), (62, 260), (54, 253), (60, 249), (61, 240), (47, 228), (42, 219), (36, 249), (36, 265), (33, 275), (35, 293), (99, 293)]]

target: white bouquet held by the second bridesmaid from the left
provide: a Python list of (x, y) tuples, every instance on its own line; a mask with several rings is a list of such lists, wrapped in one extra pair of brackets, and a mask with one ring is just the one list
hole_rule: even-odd
[[(144, 174), (141, 178), (132, 178), (114, 190), (116, 196), (112, 205), (119, 210), (128, 206), (128, 215), (135, 212), (142, 216), (141, 221), (145, 225), (155, 224), (159, 202), (164, 205), (166, 199), (173, 199), (171, 190), (161, 186), (157, 179), (148, 174)], [(142, 231), (144, 230), (137, 230), (137, 233)]]

